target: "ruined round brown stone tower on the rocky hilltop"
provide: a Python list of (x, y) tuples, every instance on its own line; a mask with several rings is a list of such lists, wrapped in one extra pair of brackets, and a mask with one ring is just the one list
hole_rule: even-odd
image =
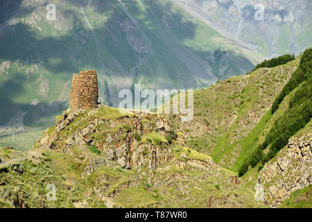
[(73, 74), (71, 83), (71, 110), (86, 110), (98, 107), (98, 80), (95, 70)]

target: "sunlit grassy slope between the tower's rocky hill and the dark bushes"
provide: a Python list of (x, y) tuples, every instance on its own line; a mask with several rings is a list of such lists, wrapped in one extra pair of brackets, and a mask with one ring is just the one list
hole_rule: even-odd
[(193, 121), (178, 123), (187, 144), (211, 155), (221, 166), (239, 172), (245, 157), (261, 141), (263, 130), (272, 124), (272, 103), (299, 63), (297, 58), (196, 90)]

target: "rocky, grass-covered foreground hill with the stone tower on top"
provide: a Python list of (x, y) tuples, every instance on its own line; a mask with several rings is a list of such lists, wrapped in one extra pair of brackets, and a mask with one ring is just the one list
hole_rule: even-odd
[[(60, 129), (71, 114), (71, 123)], [(266, 207), (233, 182), (236, 173), (186, 146), (179, 131), (169, 143), (168, 132), (155, 129), (166, 123), (156, 114), (120, 114), (102, 106), (64, 117), (31, 151), (0, 148), (1, 207)], [(175, 135), (177, 129), (168, 126)], [(82, 142), (89, 138), (91, 144)], [(123, 166), (123, 154), (130, 155), (130, 165)], [(51, 184), (55, 201), (46, 198)]]

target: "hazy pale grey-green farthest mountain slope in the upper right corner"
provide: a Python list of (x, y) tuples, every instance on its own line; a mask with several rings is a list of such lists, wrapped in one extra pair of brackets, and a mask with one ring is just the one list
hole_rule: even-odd
[(299, 53), (312, 44), (311, 1), (173, 1), (224, 36), (266, 56)]

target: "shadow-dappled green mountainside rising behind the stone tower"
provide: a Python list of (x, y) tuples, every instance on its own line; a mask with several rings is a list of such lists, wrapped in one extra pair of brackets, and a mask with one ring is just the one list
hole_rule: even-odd
[[(252, 69), (261, 56), (231, 42), (172, 1), (1, 1), (0, 126), (15, 115), (40, 126), (68, 105), (73, 73), (96, 69), (101, 102), (120, 89), (198, 88)], [(251, 62), (252, 61), (252, 62)], [(48, 121), (51, 124), (51, 121)]]

